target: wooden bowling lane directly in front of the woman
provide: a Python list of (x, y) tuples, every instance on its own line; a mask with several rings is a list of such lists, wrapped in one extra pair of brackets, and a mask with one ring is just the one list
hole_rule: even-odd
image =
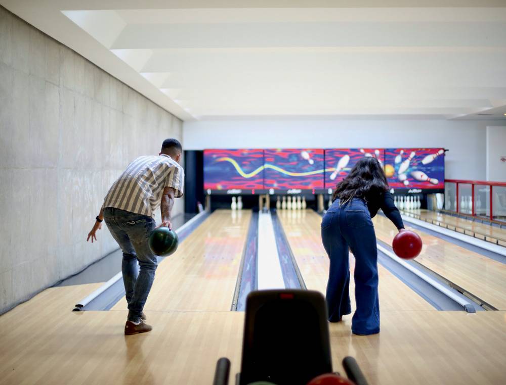
[[(297, 264), (310, 290), (318, 290), (325, 295), (328, 280), (329, 261), (321, 243), (321, 216), (313, 210), (288, 211), (279, 210), (278, 216), (290, 244)], [(350, 297), (352, 308), (355, 304), (353, 269), (355, 259), (350, 256)], [(434, 310), (423, 298), (413, 292), (390, 271), (378, 264), (379, 273), (379, 308), (381, 311), (392, 310)], [(352, 315), (345, 316), (351, 318)]]

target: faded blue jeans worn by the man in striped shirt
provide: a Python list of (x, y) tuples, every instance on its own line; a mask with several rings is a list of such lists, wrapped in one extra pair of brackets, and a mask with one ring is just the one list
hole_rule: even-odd
[(156, 227), (155, 221), (146, 215), (112, 207), (104, 209), (104, 220), (123, 251), (121, 272), (128, 302), (128, 320), (139, 322), (158, 266), (156, 255), (148, 245), (149, 235)]

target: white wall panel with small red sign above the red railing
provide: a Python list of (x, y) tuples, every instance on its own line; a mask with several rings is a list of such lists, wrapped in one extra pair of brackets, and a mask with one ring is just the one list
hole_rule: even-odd
[(487, 180), (506, 182), (506, 127), (487, 127)]

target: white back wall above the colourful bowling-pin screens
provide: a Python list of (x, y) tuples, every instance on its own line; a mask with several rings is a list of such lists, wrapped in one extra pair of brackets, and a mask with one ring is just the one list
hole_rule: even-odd
[[(277, 119), (184, 122), (185, 149), (444, 147), (446, 177), (485, 180), (489, 121)], [(496, 121), (494, 125), (506, 125)]]

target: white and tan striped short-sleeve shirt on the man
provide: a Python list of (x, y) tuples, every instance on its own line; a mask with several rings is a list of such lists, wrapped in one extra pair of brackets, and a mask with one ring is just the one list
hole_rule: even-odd
[(168, 155), (139, 157), (112, 184), (103, 207), (154, 216), (165, 187), (173, 187), (176, 198), (183, 196), (184, 176), (183, 167)]

